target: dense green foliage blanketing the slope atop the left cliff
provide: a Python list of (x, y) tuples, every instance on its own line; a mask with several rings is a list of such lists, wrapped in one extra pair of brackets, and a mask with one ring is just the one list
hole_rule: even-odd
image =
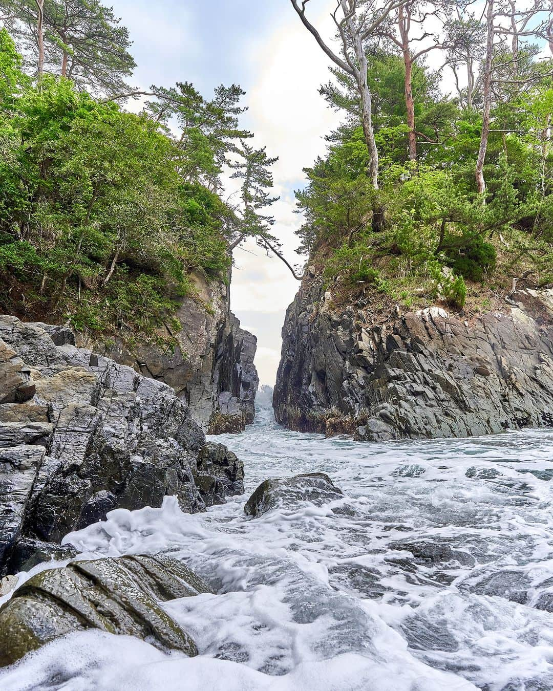
[(0, 307), (153, 334), (192, 269), (226, 274), (234, 214), (150, 117), (20, 64), (0, 32)]

